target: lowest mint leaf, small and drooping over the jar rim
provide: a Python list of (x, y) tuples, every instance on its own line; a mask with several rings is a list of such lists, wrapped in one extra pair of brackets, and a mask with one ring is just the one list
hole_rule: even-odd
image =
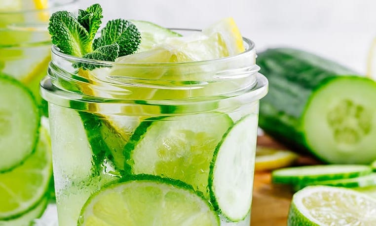
[[(90, 59), (90, 60), (98, 60), (98, 61), (115, 61), (115, 59), (119, 55), (119, 45), (117, 43), (113, 43), (111, 45), (105, 45), (97, 48), (91, 53), (85, 54), (82, 58)], [(94, 65), (88, 63), (75, 63), (74, 67), (79, 68), (83, 67), (84, 69), (93, 70), (96, 67), (101, 67), (104, 65)]]

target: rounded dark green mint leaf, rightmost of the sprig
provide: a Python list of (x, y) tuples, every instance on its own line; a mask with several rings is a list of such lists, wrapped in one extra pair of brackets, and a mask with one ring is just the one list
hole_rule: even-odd
[(101, 36), (93, 42), (93, 49), (117, 43), (120, 47), (118, 56), (121, 57), (135, 53), (140, 42), (141, 34), (132, 22), (116, 19), (102, 29)]

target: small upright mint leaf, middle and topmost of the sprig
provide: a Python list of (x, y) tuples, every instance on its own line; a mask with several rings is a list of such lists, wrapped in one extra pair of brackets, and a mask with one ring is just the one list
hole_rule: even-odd
[(95, 34), (101, 27), (103, 10), (100, 4), (93, 4), (89, 6), (86, 10), (78, 10), (78, 23), (82, 25), (89, 33), (90, 40), (94, 39)]

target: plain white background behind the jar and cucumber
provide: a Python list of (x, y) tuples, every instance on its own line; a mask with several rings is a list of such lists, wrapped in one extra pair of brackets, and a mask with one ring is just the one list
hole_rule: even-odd
[(361, 74), (376, 36), (376, 0), (81, 0), (104, 7), (105, 19), (149, 20), (164, 27), (205, 28), (232, 16), (258, 51), (291, 46)]

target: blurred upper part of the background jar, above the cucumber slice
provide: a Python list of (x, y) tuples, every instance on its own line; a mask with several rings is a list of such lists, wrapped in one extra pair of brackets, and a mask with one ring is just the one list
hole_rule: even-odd
[(46, 75), (51, 60), (49, 17), (58, 10), (74, 10), (76, 2), (51, 0), (48, 8), (35, 9), (30, 0), (30, 5), (20, 10), (0, 11), (0, 75), (20, 80), (32, 91), (38, 103), (42, 100), (39, 81)]

